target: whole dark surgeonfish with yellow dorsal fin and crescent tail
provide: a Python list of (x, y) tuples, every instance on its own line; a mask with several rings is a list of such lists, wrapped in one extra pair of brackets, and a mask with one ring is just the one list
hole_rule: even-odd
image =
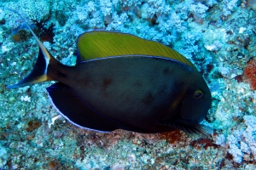
[(77, 40), (77, 63), (68, 66), (26, 26), (38, 43), (38, 58), (27, 77), (7, 88), (56, 81), (47, 88), (56, 111), (98, 132), (211, 131), (200, 124), (212, 103), (207, 82), (172, 48), (118, 31), (85, 31)]

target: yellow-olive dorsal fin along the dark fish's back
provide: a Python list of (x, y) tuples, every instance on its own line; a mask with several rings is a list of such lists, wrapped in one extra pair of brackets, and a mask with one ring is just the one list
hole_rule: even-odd
[(129, 54), (160, 56), (195, 66), (182, 54), (160, 42), (148, 41), (131, 34), (113, 31), (88, 31), (79, 36), (80, 59), (96, 59)]

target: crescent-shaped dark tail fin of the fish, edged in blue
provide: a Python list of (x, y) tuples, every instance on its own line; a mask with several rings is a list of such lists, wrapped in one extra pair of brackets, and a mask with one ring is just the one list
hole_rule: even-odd
[(21, 88), (27, 85), (32, 85), (34, 83), (53, 80), (51, 77), (47, 75), (47, 69), (50, 63), (55, 63), (58, 61), (56, 61), (56, 59), (51, 54), (49, 54), (48, 50), (44, 47), (44, 44), (40, 42), (38, 37), (32, 31), (31, 27), (28, 26), (26, 20), (17, 11), (11, 8), (5, 9), (8, 9), (13, 13), (18, 14), (25, 21), (26, 26), (32, 32), (33, 37), (36, 39), (39, 45), (38, 60), (34, 65), (32, 72), (17, 84), (9, 85), (7, 86), (7, 88)]

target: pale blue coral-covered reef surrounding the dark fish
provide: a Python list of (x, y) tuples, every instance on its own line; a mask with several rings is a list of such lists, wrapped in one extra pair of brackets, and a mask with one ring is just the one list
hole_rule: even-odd
[[(7, 89), (32, 70), (38, 44), (18, 11), (65, 65), (84, 31), (162, 42), (195, 64), (212, 92), (203, 124), (182, 131), (96, 133), (58, 116), (46, 88)], [(0, 169), (256, 169), (255, 0), (1, 0)]]

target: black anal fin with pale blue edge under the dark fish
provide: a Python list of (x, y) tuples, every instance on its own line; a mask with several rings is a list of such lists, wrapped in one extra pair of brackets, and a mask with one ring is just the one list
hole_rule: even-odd
[(110, 132), (118, 128), (117, 123), (90, 109), (71, 89), (57, 82), (47, 88), (53, 105), (68, 122), (90, 130)]

